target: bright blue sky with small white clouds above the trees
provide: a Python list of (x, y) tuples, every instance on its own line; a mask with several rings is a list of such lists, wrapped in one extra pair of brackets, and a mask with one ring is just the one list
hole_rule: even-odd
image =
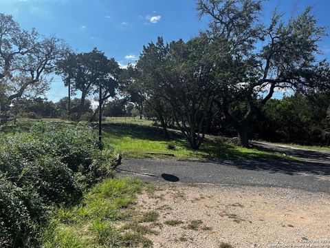
[[(275, 6), (289, 16), (309, 5), (330, 33), (328, 0), (266, 1), (265, 18)], [(76, 52), (97, 47), (121, 65), (133, 63), (143, 45), (158, 36), (165, 41), (187, 40), (207, 28), (207, 21), (197, 17), (196, 0), (0, 0), (0, 6), (0, 11), (12, 14), (22, 28), (56, 34)], [(320, 47), (323, 56), (330, 58), (329, 37)], [(58, 101), (66, 94), (61, 78), (56, 78), (47, 97)]]

